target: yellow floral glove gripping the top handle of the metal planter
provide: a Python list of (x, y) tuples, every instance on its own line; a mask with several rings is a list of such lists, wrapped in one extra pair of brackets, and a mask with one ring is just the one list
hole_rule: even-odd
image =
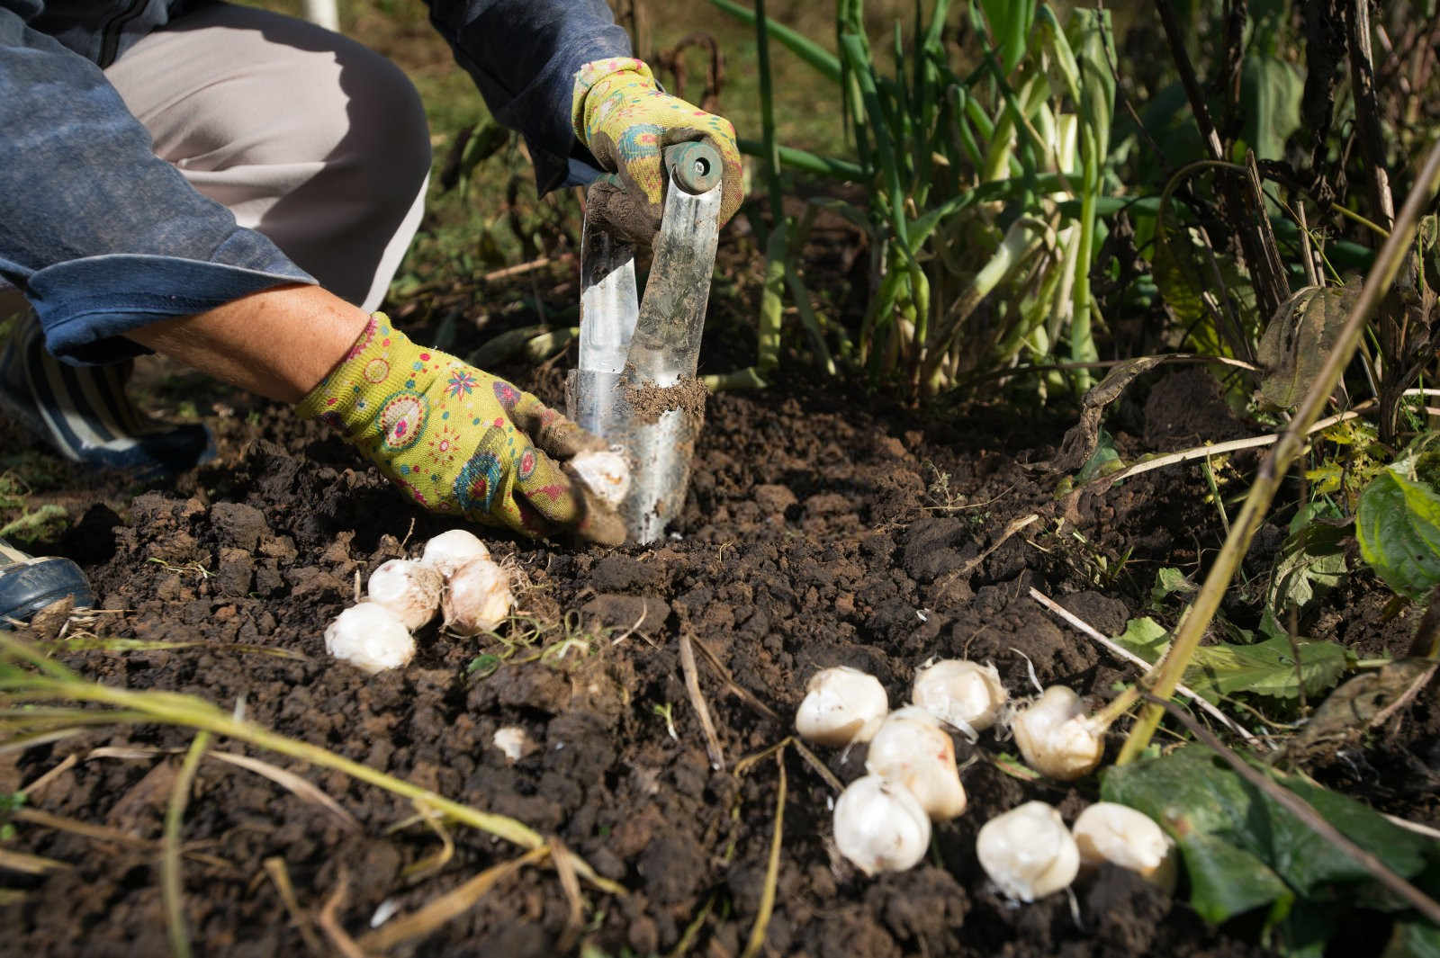
[(655, 236), (667, 178), (661, 152), (677, 142), (704, 140), (720, 152), (720, 224), (740, 209), (734, 127), (662, 92), (641, 60), (616, 56), (582, 66), (570, 114), (575, 135), (612, 171), (590, 186), (586, 213), (616, 236), (645, 245)]

